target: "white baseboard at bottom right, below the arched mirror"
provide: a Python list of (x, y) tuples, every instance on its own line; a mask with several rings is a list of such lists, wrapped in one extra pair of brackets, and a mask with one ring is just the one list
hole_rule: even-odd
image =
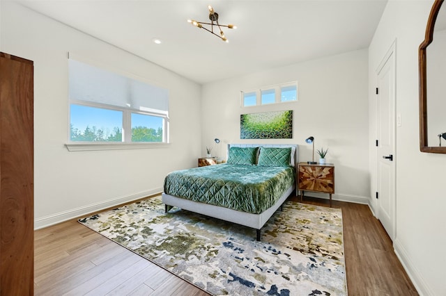
[(418, 294), (420, 294), (421, 296), (433, 296), (433, 292), (426, 285), (426, 282), (424, 281), (417, 268), (415, 268), (415, 265), (413, 265), (412, 261), (410, 261), (406, 249), (404, 249), (404, 247), (401, 245), (398, 238), (394, 240), (393, 247), (395, 254), (397, 254), (399, 262), (401, 262), (404, 270), (406, 270), (406, 273), (408, 274), (410, 281), (412, 281), (413, 286), (415, 286), (415, 289), (417, 289)]

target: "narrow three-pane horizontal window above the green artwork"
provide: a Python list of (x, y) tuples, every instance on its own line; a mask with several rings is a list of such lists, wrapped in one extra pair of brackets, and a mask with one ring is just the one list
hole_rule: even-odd
[(297, 101), (298, 82), (270, 85), (260, 90), (242, 91), (240, 93), (242, 107)]

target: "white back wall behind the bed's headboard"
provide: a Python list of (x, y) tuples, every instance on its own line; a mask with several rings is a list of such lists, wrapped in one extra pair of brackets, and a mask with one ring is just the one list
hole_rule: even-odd
[[(240, 108), (240, 90), (296, 80), (297, 102)], [(213, 145), (214, 155), (226, 157), (229, 142), (296, 143), (300, 161), (309, 161), (312, 145), (305, 139), (313, 135), (315, 149), (328, 148), (327, 160), (335, 165), (333, 198), (368, 203), (367, 98), (367, 49), (208, 83), (202, 90), (202, 154)], [(240, 140), (240, 114), (274, 110), (293, 110), (293, 139)], [(214, 138), (222, 140), (220, 147)]]

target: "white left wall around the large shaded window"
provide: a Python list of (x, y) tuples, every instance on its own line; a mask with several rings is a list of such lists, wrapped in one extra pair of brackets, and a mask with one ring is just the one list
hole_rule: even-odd
[[(1, 50), (34, 61), (36, 227), (161, 192), (168, 172), (197, 165), (197, 83), (9, 1), (1, 2)], [(167, 88), (171, 145), (68, 151), (68, 51)]]

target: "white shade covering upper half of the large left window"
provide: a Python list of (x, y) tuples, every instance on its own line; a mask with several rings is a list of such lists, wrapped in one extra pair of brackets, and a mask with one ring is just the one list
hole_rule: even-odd
[(105, 69), (68, 60), (71, 100), (89, 101), (167, 115), (169, 92)]

